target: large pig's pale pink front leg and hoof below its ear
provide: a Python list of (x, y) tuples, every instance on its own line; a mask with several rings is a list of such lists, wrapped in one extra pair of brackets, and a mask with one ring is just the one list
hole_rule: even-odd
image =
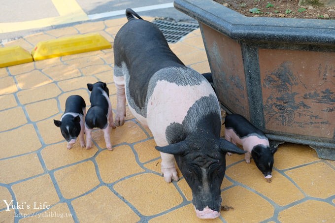
[(174, 165), (174, 156), (172, 154), (167, 154), (167, 153), (162, 153), (161, 158), (162, 158), (162, 163), (161, 163), (161, 171), (164, 177), (164, 180), (167, 183), (170, 183), (172, 180), (178, 181), (178, 173), (176, 170), (176, 167)]

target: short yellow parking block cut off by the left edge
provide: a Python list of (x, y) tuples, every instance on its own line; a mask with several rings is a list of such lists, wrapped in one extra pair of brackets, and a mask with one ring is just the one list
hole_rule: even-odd
[(21, 46), (0, 48), (0, 67), (24, 64), (32, 61), (32, 55)]

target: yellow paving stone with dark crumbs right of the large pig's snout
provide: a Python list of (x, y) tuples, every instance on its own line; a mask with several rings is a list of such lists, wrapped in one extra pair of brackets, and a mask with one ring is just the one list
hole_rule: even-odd
[(221, 212), (228, 223), (258, 223), (273, 216), (274, 208), (268, 201), (240, 186), (223, 191), (221, 197), (221, 205), (234, 208)]

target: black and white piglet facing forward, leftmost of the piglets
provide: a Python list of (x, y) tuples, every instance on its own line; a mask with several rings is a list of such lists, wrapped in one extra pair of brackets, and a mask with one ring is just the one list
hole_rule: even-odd
[(81, 147), (85, 147), (84, 140), (84, 119), (86, 113), (85, 100), (78, 95), (67, 97), (65, 102), (65, 112), (61, 120), (54, 120), (54, 124), (61, 128), (65, 140), (67, 140), (67, 149), (71, 149), (78, 135)]

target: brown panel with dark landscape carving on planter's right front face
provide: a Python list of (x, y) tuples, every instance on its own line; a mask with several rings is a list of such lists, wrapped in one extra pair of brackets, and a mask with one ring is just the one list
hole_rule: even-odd
[(266, 129), (335, 138), (334, 53), (260, 49), (259, 62)]

